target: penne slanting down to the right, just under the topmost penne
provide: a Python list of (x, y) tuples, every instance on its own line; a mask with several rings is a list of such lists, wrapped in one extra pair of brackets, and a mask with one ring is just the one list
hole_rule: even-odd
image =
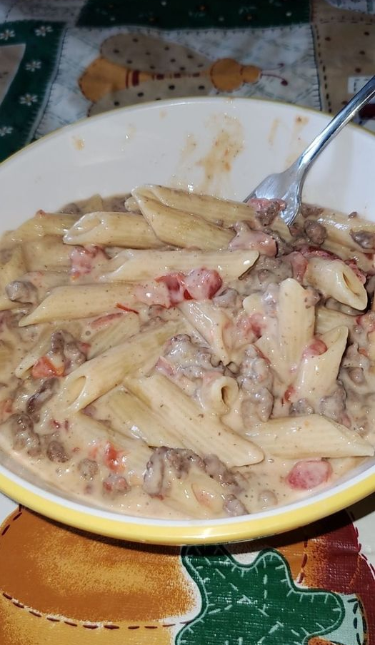
[(234, 231), (206, 222), (197, 215), (169, 208), (156, 200), (139, 197), (136, 193), (134, 197), (155, 235), (165, 244), (216, 250), (227, 248), (234, 238)]

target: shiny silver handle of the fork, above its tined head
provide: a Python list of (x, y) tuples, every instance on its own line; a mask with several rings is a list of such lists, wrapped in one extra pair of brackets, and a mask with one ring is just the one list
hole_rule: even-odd
[(311, 141), (306, 150), (298, 159), (296, 159), (293, 165), (296, 166), (296, 171), (298, 172), (300, 179), (304, 177), (305, 173), (309, 170), (311, 163), (313, 163), (321, 151), (324, 150), (327, 143), (329, 143), (336, 134), (339, 134), (341, 129), (346, 126), (346, 123), (351, 121), (356, 113), (359, 112), (361, 107), (364, 106), (372, 96), (375, 96), (375, 76), (370, 78), (366, 85), (359, 90), (353, 98), (351, 98), (349, 103), (346, 103), (346, 106), (344, 106), (344, 108), (342, 108), (342, 110), (340, 110), (336, 116), (329, 121), (324, 130), (314, 138), (314, 141)]

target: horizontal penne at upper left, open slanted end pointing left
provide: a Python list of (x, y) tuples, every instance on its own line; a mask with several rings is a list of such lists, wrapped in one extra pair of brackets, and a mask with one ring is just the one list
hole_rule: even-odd
[(163, 243), (143, 217), (134, 213), (99, 211), (83, 215), (64, 235), (66, 244), (99, 244), (159, 248)]

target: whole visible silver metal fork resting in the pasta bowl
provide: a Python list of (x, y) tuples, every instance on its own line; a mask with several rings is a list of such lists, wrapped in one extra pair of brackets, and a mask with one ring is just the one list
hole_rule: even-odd
[(374, 95), (375, 76), (370, 78), (368, 83), (334, 116), (332, 121), (314, 138), (314, 141), (311, 141), (306, 150), (284, 173), (275, 173), (266, 177), (244, 201), (247, 202), (252, 198), (284, 200), (286, 206), (280, 215), (286, 224), (291, 225), (301, 208), (302, 187), (311, 164), (314, 163), (329, 141), (346, 126), (346, 123), (351, 121), (361, 107)]

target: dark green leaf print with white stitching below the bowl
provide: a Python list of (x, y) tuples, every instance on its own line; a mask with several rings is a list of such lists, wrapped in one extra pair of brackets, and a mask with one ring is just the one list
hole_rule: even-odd
[(344, 621), (341, 596), (296, 586), (274, 549), (239, 564), (223, 547), (188, 547), (182, 562), (198, 585), (201, 610), (176, 645), (307, 645), (313, 636), (337, 634)]

